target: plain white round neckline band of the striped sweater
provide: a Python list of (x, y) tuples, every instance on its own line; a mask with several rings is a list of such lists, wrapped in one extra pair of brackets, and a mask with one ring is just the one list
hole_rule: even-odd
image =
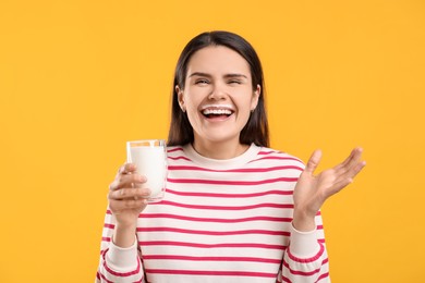
[(259, 150), (260, 147), (256, 146), (255, 144), (251, 144), (248, 149), (238, 157), (231, 159), (211, 159), (199, 155), (193, 148), (192, 144), (186, 144), (183, 146), (183, 151), (193, 162), (204, 168), (214, 170), (229, 170), (240, 168), (252, 161), (258, 155)]

